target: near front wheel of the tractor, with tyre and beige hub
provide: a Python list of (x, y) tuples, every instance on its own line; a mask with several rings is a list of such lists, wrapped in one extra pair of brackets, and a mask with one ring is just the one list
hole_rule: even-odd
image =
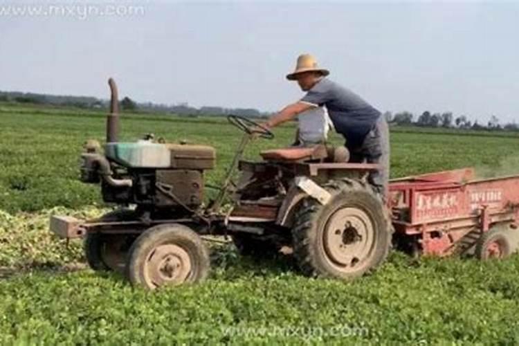
[(149, 228), (131, 246), (127, 275), (135, 286), (156, 289), (201, 282), (209, 268), (208, 249), (194, 230), (164, 224)]

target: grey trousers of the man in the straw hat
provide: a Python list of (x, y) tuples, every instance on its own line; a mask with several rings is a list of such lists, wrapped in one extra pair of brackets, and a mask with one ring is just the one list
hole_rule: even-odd
[(367, 181), (379, 192), (383, 200), (388, 201), (389, 194), (389, 168), (390, 168), (390, 144), (388, 122), (381, 116), (374, 127), (364, 138), (361, 147), (349, 149), (349, 162), (352, 163), (376, 163), (381, 166), (379, 171), (370, 173)]

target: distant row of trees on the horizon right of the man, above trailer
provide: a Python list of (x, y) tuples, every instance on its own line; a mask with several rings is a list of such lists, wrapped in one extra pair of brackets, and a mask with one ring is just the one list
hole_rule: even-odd
[(457, 129), (474, 129), (474, 130), (489, 130), (489, 131), (518, 131), (519, 125), (516, 122), (507, 122), (501, 124), (497, 116), (490, 116), (488, 122), (472, 122), (466, 116), (454, 116), (451, 112), (431, 113), (424, 111), (419, 116), (409, 111), (402, 111), (399, 113), (385, 112), (385, 118), (388, 122), (404, 125), (404, 126), (418, 126), (418, 127), (444, 127)]

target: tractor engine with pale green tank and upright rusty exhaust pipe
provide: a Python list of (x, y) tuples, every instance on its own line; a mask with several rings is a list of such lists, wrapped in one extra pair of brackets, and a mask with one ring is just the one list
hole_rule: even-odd
[[(215, 149), (204, 145), (118, 142), (118, 92), (111, 88), (104, 154), (95, 140), (82, 154), (81, 181), (100, 183), (103, 201), (144, 210), (193, 210), (203, 201), (203, 172), (215, 166)], [(152, 136), (147, 136), (152, 138)]]

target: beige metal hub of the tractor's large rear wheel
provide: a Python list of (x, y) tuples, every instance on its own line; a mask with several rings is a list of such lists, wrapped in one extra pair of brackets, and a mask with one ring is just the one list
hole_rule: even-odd
[(327, 258), (334, 266), (347, 271), (356, 268), (374, 244), (373, 224), (363, 210), (342, 208), (329, 217), (323, 233)]

